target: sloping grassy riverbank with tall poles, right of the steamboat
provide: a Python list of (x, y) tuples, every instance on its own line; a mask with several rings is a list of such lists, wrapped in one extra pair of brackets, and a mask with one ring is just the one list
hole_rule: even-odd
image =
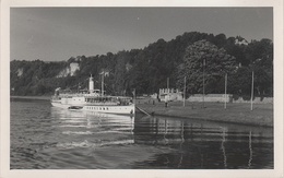
[(138, 102), (137, 107), (150, 115), (179, 118), (194, 118), (202, 120), (240, 123), (261, 127), (273, 127), (273, 105), (255, 104), (250, 110), (250, 104), (229, 103), (224, 108), (223, 103), (171, 102), (168, 107), (165, 103)]

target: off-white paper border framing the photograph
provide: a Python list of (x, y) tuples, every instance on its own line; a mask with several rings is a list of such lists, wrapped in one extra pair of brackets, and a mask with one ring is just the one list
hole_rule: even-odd
[[(272, 7), (274, 44), (274, 169), (188, 169), (188, 170), (10, 170), (10, 8), (20, 7)], [(283, 177), (283, 0), (2, 0), (1, 1), (1, 129), (0, 129), (0, 177)]]

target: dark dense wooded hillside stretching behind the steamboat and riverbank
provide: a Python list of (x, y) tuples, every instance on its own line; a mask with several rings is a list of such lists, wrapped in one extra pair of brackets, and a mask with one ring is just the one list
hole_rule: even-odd
[[(202, 71), (206, 93), (224, 93), (224, 75), (228, 74), (228, 93), (249, 95), (251, 71), (255, 71), (257, 95), (273, 95), (273, 44), (270, 39), (245, 41), (224, 34), (185, 33), (170, 41), (158, 39), (144, 49), (108, 52), (102, 56), (71, 57), (67, 61), (11, 61), (12, 95), (50, 95), (56, 87), (87, 88), (87, 78), (95, 76), (100, 87), (105, 71), (107, 94), (131, 95), (157, 93), (167, 86), (184, 88), (187, 76), (188, 94), (202, 93)], [(79, 63), (74, 75), (59, 73), (70, 63)]]

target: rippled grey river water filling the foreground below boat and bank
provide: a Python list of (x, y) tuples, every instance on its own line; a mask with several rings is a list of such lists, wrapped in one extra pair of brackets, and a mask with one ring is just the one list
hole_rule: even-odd
[(11, 99), (11, 169), (273, 169), (273, 129)]

